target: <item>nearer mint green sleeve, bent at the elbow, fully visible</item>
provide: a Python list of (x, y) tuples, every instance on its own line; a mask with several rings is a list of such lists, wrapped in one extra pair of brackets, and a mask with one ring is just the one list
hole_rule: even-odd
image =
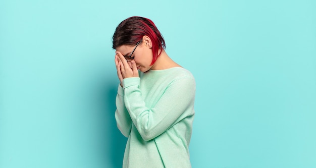
[(170, 82), (151, 108), (142, 100), (139, 85), (140, 78), (123, 80), (124, 103), (145, 141), (161, 135), (182, 119), (193, 115), (195, 81), (192, 77), (182, 76)]

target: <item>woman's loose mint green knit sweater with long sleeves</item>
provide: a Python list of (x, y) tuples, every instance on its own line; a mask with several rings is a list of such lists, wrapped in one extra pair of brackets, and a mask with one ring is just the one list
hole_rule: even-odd
[(128, 137), (123, 167), (191, 167), (195, 80), (180, 67), (149, 70), (119, 85), (115, 118)]

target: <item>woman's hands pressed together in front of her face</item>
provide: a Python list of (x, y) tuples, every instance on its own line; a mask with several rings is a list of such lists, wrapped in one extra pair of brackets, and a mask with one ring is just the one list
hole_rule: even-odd
[(118, 72), (118, 77), (121, 82), (121, 86), (123, 79), (131, 78), (131, 77), (138, 77), (138, 70), (136, 67), (136, 63), (134, 60), (127, 62), (121, 52), (116, 51), (115, 55), (115, 65), (116, 70)]

